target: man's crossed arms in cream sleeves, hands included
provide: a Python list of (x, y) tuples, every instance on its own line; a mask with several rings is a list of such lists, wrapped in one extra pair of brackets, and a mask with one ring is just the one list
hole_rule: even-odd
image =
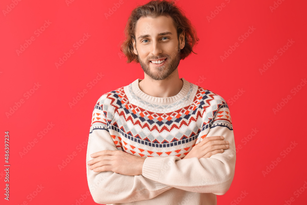
[[(94, 111), (105, 117), (103, 111)], [(227, 107), (219, 111), (229, 112)], [(213, 122), (215, 120), (218, 120), (216, 116)], [(223, 195), (231, 185), (235, 171), (235, 141), (233, 130), (227, 127), (215, 126), (207, 130), (206, 138), (182, 160), (177, 156), (146, 159), (133, 156), (117, 149), (106, 124), (93, 123), (91, 130), (86, 156), (91, 168), (87, 164), (87, 181), (96, 203), (152, 199), (173, 187)], [(199, 138), (204, 134), (200, 132)], [(224, 140), (219, 136), (224, 136)], [(229, 148), (225, 146), (226, 141)]]

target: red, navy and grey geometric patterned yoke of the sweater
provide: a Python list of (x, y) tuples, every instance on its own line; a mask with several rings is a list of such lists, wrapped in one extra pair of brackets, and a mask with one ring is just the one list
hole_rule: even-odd
[[(210, 128), (232, 130), (228, 105), (222, 97), (191, 83), (188, 87), (184, 98), (170, 104), (142, 101), (133, 93), (132, 84), (106, 93), (95, 105), (90, 133), (106, 130), (118, 150), (132, 155), (182, 159)], [(130, 91), (131, 100), (125, 90)], [(177, 109), (169, 112), (171, 107)], [(160, 112), (154, 112), (157, 108)], [(163, 108), (168, 112), (161, 112)]]

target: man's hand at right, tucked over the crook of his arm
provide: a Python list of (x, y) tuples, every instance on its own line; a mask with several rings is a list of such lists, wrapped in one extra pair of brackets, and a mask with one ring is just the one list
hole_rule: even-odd
[(200, 143), (196, 144), (192, 150), (183, 158), (209, 158), (217, 153), (223, 153), (224, 149), (229, 148), (229, 142), (223, 140), (223, 136), (206, 137)]

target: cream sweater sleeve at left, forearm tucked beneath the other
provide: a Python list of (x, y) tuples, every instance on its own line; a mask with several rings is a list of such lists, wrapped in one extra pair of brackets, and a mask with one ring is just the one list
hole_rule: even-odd
[[(86, 162), (90, 155), (102, 150), (118, 150), (108, 130), (107, 105), (103, 99), (95, 105), (90, 128)], [(129, 176), (113, 171), (94, 172), (86, 164), (87, 183), (96, 203), (126, 203), (151, 199), (173, 187), (145, 178), (143, 175)]]

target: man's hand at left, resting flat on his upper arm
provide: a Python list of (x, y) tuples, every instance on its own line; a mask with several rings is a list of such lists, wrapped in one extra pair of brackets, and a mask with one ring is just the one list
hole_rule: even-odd
[(120, 150), (103, 150), (90, 155), (87, 162), (95, 172), (113, 171), (123, 175), (141, 175), (145, 158), (134, 156)]

